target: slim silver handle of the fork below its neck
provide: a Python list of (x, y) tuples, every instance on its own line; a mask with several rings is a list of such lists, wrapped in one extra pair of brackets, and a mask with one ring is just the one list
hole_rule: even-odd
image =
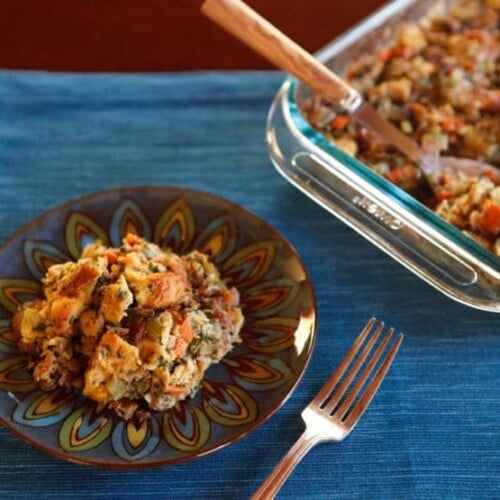
[(251, 500), (267, 500), (274, 498), (288, 476), (295, 469), (295, 466), (320, 440), (317, 434), (313, 434), (306, 429), (271, 474), (269, 474), (267, 479), (260, 485), (259, 489), (252, 495)]

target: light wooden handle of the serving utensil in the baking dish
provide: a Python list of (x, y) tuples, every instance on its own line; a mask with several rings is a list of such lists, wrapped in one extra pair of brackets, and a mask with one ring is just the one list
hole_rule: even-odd
[(309, 52), (240, 0), (205, 0), (202, 12), (275, 66), (295, 75), (330, 102), (345, 99), (350, 87)]

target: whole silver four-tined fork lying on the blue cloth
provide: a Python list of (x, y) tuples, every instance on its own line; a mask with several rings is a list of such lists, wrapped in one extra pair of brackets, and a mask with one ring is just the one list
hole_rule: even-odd
[[(390, 328), (375, 352), (371, 354), (384, 329), (384, 323), (380, 322), (370, 336), (370, 331), (375, 322), (375, 318), (368, 321), (338, 368), (330, 375), (318, 395), (302, 411), (302, 420), (306, 424), (306, 430), (254, 493), (252, 500), (274, 498), (274, 495), (276, 495), (295, 466), (313, 446), (323, 441), (342, 441), (357, 424), (387, 374), (403, 340), (403, 334), (400, 333), (379, 363), (379, 367), (366, 390), (359, 399), (356, 399), (365, 383), (375, 372), (377, 363), (382, 358), (384, 351), (388, 349), (394, 333), (394, 328)], [(367, 339), (368, 341), (362, 349)], [(344, 372), (358, 353), (360, 354), (351, 369), (345, 378), (341, 380)], [(370, 354), (371, 358), (368, 359)], [(366, 366), (359, 379), (348, 391), (365, 362)]]

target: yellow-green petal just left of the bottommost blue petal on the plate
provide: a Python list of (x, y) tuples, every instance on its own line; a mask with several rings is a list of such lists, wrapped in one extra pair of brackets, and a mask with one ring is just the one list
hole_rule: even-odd
[(109, 416), (96, 415), (88, 406), (78, 408), (59, 429), (59, 444), (70, 452), (91, 450), (108, 439), (112, 428)]

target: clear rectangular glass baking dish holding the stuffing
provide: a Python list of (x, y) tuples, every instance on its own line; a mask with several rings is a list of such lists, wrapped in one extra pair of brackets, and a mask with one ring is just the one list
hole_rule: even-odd
[[(447, 2), (441, 2), (442, 8)], [(390, 40), (436, 0), (396, 0), (316, 56), (341, 74), (348, 62)], [(500, 258), (347, 155), (301, 113), (311, 91), (288, 77), (269, 111), (266, 140), (277, 170), (295, 187), (447, 296), (500, 312)]]

